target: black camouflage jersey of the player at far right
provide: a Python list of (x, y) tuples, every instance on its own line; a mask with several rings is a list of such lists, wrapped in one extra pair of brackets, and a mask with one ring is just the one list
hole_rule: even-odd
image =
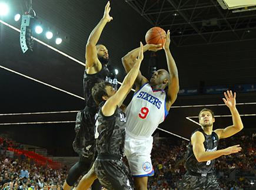
[[(192, 134), (194, 134), (196, 131), (200, 131), (204, 135), (205, 151), (207, 152), (217, 151), (217, 145), (218, 145), (219, 139), (218, 139), (218, 135), (214, 131), (212, 131), (211, 135), (207, 135), (204, 133), (202, 128), (198, 128)], [(191, 142), (188, 144), (188, 150), (187, 150), (187, 156), (186, 156), (186, 162), (185, 162), (185, 168), (187, 169), (188, 172), (194, 172), (198, 174), (212, 173), (215, 171), (214, 162), (215, 160), (198, 162), (197, 158), (195, 158)]]

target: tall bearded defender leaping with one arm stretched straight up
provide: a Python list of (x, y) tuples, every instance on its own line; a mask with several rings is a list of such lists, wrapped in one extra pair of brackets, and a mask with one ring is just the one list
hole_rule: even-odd
[[(77, 114), (75, 124), (76, 137), (73, 143), (75, 152), (79, 154), (79, 161), (68, 172), (67, 179), (63, 185), (65, 190), (71, 189), (78, 178), (88, 172), (95, 160), (94, 116), (97, 113), (98, 106), (91, 95), (92, 87), (94, 87), (95, 83), (104, 80), (117, 89), (117, 78), (113, 72), (109, 71), (107, 66), (108, 49), (104, 45), (97, 45), (104, 26), (112, 20), (112, 17), (109, 16), (109, 11), (108, 2), (105, 6), (104, 16), (92, 30), (86, 46), (84, 73), (85, 108)], [(95, 181), (92, 189), (101, 189), (98, 181)]]

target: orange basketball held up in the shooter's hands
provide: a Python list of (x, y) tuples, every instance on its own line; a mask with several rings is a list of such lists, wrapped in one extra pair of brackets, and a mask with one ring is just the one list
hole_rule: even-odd
[(162, 46), (164, 46), (164, 42), (166, 40), (165, 30), (159, 27), (153, 27), (146, 33), (145, 40), (147, 44), (157, 45), (161, 43)]

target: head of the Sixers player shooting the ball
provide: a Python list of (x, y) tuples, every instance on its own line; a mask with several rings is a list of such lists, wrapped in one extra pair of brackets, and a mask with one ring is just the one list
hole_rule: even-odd
[(162, 86), (162, 89), (168, 86), (169, 73), (165, 69), (159, 69), (152, 75), (150, 84), (152, 86)]

